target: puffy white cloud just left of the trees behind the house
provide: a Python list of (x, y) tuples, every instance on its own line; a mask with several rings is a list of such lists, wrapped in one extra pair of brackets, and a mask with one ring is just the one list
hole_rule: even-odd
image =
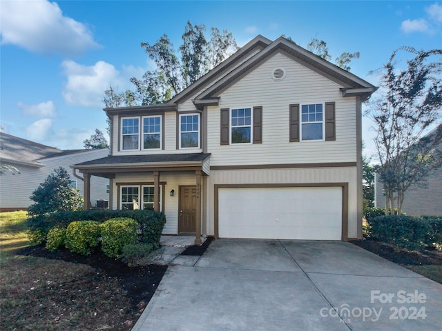
[(61, 63), (67, 81), (61, 94), (66, 103), (87, 108), (102, 109), (104, 91), (112, 86), (122, 92), (133, 88), (131, 77), (141, 78), (145, 70), (134, 66), (123, 66), (122, 72), (104, 61), (93, 66), (84, 66), (75, 61), (66, 60)]

